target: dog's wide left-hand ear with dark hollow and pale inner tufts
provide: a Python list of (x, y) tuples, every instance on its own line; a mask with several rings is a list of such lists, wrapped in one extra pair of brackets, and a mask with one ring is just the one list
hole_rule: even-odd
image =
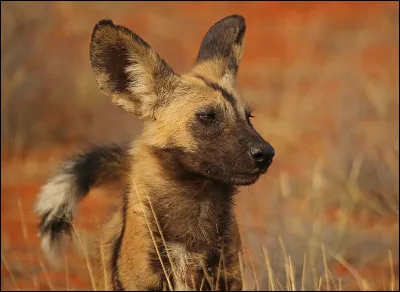
[(103, 93), (139, 118), (154, 117), (157, 105), (165, 103), (178, 79), (144, 40), (111, 20), (95, 26), (90, 61)]

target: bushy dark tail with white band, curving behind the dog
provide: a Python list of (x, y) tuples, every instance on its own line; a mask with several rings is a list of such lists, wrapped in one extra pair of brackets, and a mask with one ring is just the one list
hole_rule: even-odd
[(96, 147), (65, 161), (41, 188), (35, 206), (39, 235), (48, 259), (57, 263), (63, 234), (71, 234), (78, 203), (92, 187), (124, 181), (129, 155), (119, 146)]

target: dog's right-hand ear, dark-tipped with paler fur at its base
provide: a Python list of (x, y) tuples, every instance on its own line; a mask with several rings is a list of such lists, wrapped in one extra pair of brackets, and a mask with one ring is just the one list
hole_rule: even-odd
[(200, 45), (199, 67), (233, 86), (243, 54), (245, 31), (246, 23), (240, 15), (225, 17), (214, 24)]

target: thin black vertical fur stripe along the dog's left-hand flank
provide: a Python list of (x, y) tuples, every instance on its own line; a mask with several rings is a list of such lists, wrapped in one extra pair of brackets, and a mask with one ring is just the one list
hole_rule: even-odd
[(113, 253), (112, 253), (112, 258), (111, 258), (111, 277), (112, 277), (111, 281), (112, 281), (114, 291), (125, 291), (125, 289), (121, 283), (121, 280), (119, 279), (118, 259), (120, 257), (122, 240), (125, 235), (127, 209), (128, 209), (128, 195), (127, 195), (127, 189), (125, 189), (122, 192), (122, 211), (121, 211), (121, 213), (122, 213), (121, 214), (122, 229), (121, 229), (120, 235), (114, 242)]

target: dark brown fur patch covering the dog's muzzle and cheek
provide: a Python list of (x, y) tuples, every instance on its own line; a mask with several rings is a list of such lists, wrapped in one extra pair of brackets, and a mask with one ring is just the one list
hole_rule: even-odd
[[(183, 148), (170, 147), (156, 149), (163, 168), (177, 181), (188, 181), (192, 185), (202, 186), (204, 180), (218, 182), (221, 185), (248, 185), (254, 183), (261, 172), (256, 168), (249, 152), (251, 140), (264, 141), (247, 123), (228, 127), (222, 122), (223, 129), (218, 135), (205, 129), (197, 121), (189, 125), (189, 131), (197, 141), (198, 149), (188, 152)], [(213, 127), (213, 126), (212, 126)]]

